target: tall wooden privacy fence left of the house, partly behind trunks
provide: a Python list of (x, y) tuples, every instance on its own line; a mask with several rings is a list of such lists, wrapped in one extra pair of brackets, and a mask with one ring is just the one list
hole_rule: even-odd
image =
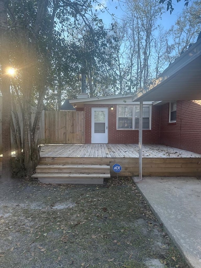
[[(21, 135), (23, 121), (19, 105), (16, 104)], [(31, 122), (35, 118), (36, 107), (31, 108)], [(15, 122), (14, 122), (15, 125)], [(42, 111), (39, 143), (84, 143), (84, 111)], [(14, 150), (11, 135), (12, 150)], [(2, 153), (2, 97), (0, 96), (0, 153)]]

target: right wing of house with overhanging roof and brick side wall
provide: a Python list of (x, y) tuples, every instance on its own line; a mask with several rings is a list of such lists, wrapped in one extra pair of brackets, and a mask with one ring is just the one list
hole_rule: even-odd
[(201, 154), (201, 39), (133, 101), (160, 107), (160, 144)]

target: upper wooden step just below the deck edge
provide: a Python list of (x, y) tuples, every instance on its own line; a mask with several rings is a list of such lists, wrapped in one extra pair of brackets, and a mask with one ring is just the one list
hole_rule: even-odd
[(108, 165), (39, 165), (36, 173), (109, 173)]

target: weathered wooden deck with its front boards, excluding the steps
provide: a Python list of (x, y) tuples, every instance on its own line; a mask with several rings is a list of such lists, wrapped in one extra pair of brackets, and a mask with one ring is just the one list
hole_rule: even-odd
[[(119, 176), (139, 175), (136, 144), (48, 144), (43, 145), (40, 165), (122, 166)], [(143, 176), (200, 176), (201, 155), (163, 145), (143, 145)]]

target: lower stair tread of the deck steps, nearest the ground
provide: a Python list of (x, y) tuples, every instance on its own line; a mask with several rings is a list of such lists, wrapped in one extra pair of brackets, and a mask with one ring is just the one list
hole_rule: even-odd
[(66, 177), (78, 177), (78, 178), (110, 178), (110, 173), (35, 173), (33, 178), (66, 178)]

